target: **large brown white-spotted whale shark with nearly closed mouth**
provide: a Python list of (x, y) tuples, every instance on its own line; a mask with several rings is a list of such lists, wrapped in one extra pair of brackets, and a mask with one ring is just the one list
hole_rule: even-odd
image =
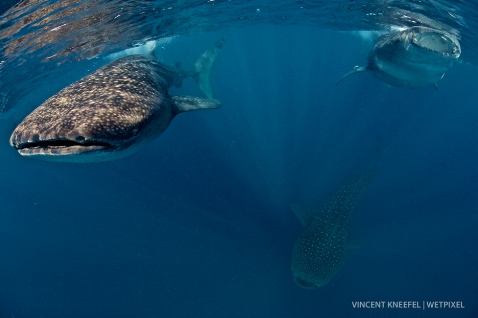
[[(15, 128), (10, 145), (24, 156), (58, 162), (98, 162), (126, 156), (161, 135), (175, 115), (221, 107), (209, 73), (225, 39), (193, 70), (168, 67), (151, 55), (130, 55), (65, 87)], [(207, 99), (169, 96), (191, 76)]]

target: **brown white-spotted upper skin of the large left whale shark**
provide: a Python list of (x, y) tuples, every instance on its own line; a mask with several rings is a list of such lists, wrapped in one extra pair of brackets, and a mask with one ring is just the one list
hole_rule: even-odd
[(127, 56), (62, 89), (18, 125), (12, 143), (37, 142), (40, 136), (103, 141), (135, 135), (133, 130), (139, 132), (168, 109), (167, 87), (151, 70), (152, 62)]

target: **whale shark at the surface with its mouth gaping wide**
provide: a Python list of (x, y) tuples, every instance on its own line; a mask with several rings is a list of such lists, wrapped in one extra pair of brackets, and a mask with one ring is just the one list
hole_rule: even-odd
[(455, 65), (460, 54), (460, 43), (455, 36), (414, 26), (381, 36), (369, 54), (367, 66), (356, 66), (337, 84), (351, 74), (369, 70), (392, 86), (420, 88), (436, 85)]

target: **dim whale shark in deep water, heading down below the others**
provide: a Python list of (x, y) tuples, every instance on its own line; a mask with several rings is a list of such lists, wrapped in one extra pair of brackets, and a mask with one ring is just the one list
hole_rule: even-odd
[(292, 277), (302, 288), (313, 289), (328, 283), (344, 262), (345, 249), (352, 245), (349, 222), (371, 174), (346, 182), (320, 209), (292, 210), (304, 226), (295, 240)]

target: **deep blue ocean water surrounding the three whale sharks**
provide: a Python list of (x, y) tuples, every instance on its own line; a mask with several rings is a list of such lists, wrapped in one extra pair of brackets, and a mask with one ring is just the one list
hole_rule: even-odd
[[(176, 5), (98, 2), (121, 9), (152, 3), (164, 11)], [(0, 317), (475, 317), (478, 49), (467, 39), (475, 39), (478, 11), (447, 2), (416, 10), (453, 6), (433, 18), (457, 28), (463, 58), (438, 89), (411, 90), (368, 73), (336, 86), (354, 65), (365, 65), (373, 46), (376, 36), (357, 30), (383, 24), (347, 22), (361, 15), (337, 9), (349, 2), (276, 21), (293, 5), (314, 3), (218, 2), (210, 19), (203, 13), (195, 20), (141, 8), (146, 18), (123, 25), (123, 42), (94, 38), (78, 51), (61, 49), (70, 34), (31, 46), (48, 34), (35, 33), (41, 20), (2, 38)], [(247, 11), (256, 4), (259, 11)], [(228, 19), (241, 10), (264, 21)], [(332, 16), (340, 23), (326, 27)], [(7, 20), (3, 30), (18, 23)], [(167, 31), (155, 34), (163, 30), (158, 25)], [(152, 144), (117, 161), (50, 163), (10, 147), (15, 126), (45, 99), (131, 39), (155, 36), (162, 61), (184, 66), (227, 38), (211, 73), (222, 108), (178, 115)], [(6, 49), (12, 43), (21, 54)], [(55, 59), (55, 52), (70, 54)], [(201, 94), (191, 79), (171, 92)], [(331, 282), (301, 289), (290, 263), (302, 226), (290, 205), (319, 207), (370, 168), (375, 177), (352, 213), (359, 243)], [(355, 301), (460, 301), (465, 308), (367, 309), (354, 308)]]

